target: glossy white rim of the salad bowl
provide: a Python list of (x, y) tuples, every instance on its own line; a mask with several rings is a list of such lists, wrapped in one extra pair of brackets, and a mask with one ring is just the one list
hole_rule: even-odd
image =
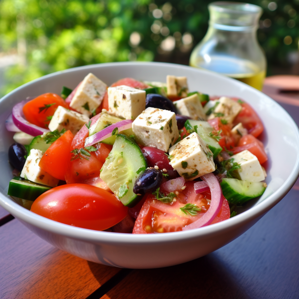
[[(58, 71), (55, 73), (51, 73), (40, 78), (37, 78), (33, 81), (23, 84), (18, 88), (14, 89), (4, 97), (0, 99), (0, 102), (5, 101), (11, 95), (13, 95), (16, 91), (29, 86), (33, 83), (38, 81), (47, 80), (52, 76), (57, 76), (59, 74), (69, 73), (69, 72), (76, 72), (80, 70), (90, 69), (93, 68), (101, 68), (101, 67), (110, 67), (110, 66), (134, 66), (134, 65), (154, 65), (158, 67), (163, 66), (170, 66), (176, 69), (184, 69), (188, 70), (192, 67), (186, 65), (179, 65), (173, 63), (166, 63), (166, 62), (108, 62), (108, 63), (101, 63), (101, 64), (94, 64), (94, 65), (85, 65), (76, 68), (70, 68), (63, 71)], [(249, 89), (254, 93), (259, 94), (260, 96), (267, 98), (270, 102), (274, 105), (279, 106), (279, 109), (282, 109), (286, 113), (286, 117), (290, 124), (292, 124), (294, 132), (296, 134), (296, 143), (299, 146), (299, 130), (298, 126), (296, 125), (295, 121), (291, 118), (288, 112), (283, 109), (277, 102), (273, 99), (268, 97), (266, 94), (263, 94), (261, 91), (254, 89), (247, 84), (237, 81), (235, 79), (225, 77), (224, 75), (207, 71), (204, 69), (197, 69), (192, 68), (193, 71), (199, 73), (208, 73), (214, 77), (221, 78), (221, 80), (231, 82), (234, 81), (235, 85), (239, 85), (242, 89)], [(299, 176), (299, 155), (297, 155), (297, 160), (294, 163), (293, 170), (286, 181), (270, 196), (260, 202), (258, 205), (255, 205), (248, 210), (242, 212), (239, 215), (236, 215), (230, 219), (224, 220), (222, 222), (215, 223), (213, 225), (208, 225), (202, 228), (196, 228), (188, 231), (178, 231), (178, 232), (171, 232), (171, 233), (164, 233), (164, 234), (122, 234), (122, 233), (114, 233), (114, 232), (106, 232), (106, 231), (94, 231), (86, 228), (79, 228), (71, 225), (66, 225), (60, 222), (56, 222), (54, 220), (45, 218), (43, 216), (37, 215), (35, 213), (30, 212), (29, 210), (23, 208), (22, 206), (18, 205), (12, 199), (9, 199), (5, 194), (0, 192), (0, 205), (5, 208), (9, 213), (15, 216), (17, 219), (21, 220), (23, 223), (27, 222), (34, 227), (43, 229), (45, 231), (52, 232), (54, 234), (59, 234), (62, 236), (70, 237), (72, 239), (80, 239), (84, 241), (91, 241), (91, 242), (105, 242), (110, 244), (121, 244), (121, 243), (129, 243), (135, 245), (149, 245), (149, 243), (166, 243), (166, 242), (177, 242), (186, 239), (193, 239), (199, 237), (207, 237), (208, 235), (218, 234), (219, 232), (229, 231), (234, 229), (235, 227), (241, 227), (242, 224), (248, 223), (253, 219), (263, 215), (268, 210), (270, 210), (274, 205), (276, 205), (292, 188), (295, 184), (296, 180)]]

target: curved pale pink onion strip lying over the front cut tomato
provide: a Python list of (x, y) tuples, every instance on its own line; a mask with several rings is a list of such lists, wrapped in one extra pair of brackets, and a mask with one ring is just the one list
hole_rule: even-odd
[(200, 228), (202, 226), (209, 225), (214, 218), (217, 216), (219, 213), (222, 203), (223, 203), (223, 194), (222, 194), (222, 189), (219, 185), (218, 180), (216, 177), (213, 175), (213, 173), (208, 173), (200, 177), (202, 180), (204, 180), (211, 191), (211, 203), (210, 203), (210, 208), (208, 209), (207, 212), (205, 212), (201, 218), (198, 220), (194, 221), (193, 223), (183, 227), (183, 231), (187, 231), (189, 229), (193, 228)]

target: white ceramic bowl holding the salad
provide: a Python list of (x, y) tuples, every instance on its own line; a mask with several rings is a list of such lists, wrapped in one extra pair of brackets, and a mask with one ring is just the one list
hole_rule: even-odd
[[(262, 140), (269, 157), (268, 187), (263, 197), (249, 202), (239, 215), (203, 228), (165, 234), (120, 234), (92, 231), (44, 218), (8, 197), (12, 178), (7, 149), (13, 142), (4, 121), (12, 107), (28, 96), (60, 94), (62, 85), (74, 88), (89, 72), (108, 85), (123, 77), (165, 82), (166, 75), (187, 76), (190, 91), (240, 97), (263, 120)], [(219, 74), (168, 63), (120, 62), (88, 65), (50, 74), (27, 83), (0, 100), (0, 205), (50, 244), (83, 259), (124, 268), (157, 268), (184, 263), (231, 242), (256, 223), (291, 189), (299, 172), (298, 128), (289, 114), (260, 91)], [(287, 221), (287, 219), (286, 219)]]

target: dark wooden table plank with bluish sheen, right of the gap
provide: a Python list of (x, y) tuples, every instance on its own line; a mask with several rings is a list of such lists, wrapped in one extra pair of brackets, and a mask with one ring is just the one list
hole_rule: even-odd
[(298, 196), (293, 188), (217, 251), (179, 266), (134, 270), (102, 299), (299, 298)]

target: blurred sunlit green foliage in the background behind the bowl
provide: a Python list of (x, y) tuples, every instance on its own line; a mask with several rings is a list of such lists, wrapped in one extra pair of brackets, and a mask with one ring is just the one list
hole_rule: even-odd
[[(66, 68), (170, 55), (159, 46), (167, 36), (175, 37), (175, 51), (189, 55), (208, 28), (209, 2), (0, 0), (0, 52), (20, 57), (2, 93)], [(298, 49), (299, 0), (249, 2), (264, 9), (258, 39), (270, 67), (286, 65)], [(184, 33), (193, 40), (184, 43)]]

